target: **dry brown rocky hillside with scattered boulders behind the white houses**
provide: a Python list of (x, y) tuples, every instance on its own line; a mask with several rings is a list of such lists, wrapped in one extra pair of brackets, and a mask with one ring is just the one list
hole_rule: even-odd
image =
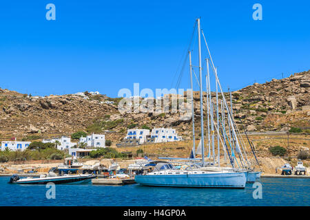
[[(228, 94), (225, 94), (227, 100)], [(32, 135), (54, 137), (75, 131), (104, 133), (115, 143), (128, 127), (174, 127), (185, 139), (192, 135), (192, 115), (180, 113), (120, 113), (117, 102), (105, 104), (104, 96), (63, 95), (28, 97), (0, 89), (0, 140), (22, 139)], [(275, 131), (297, 126), (310, 129), (310, 71), (282, 80), (255, 83), (233, 92), (234, 116), (248, 131)], [(189, 103), (184, 103), (189, 109)], [(304, 111), (302, 111), (302, 109)], [(307, 110), (308, 109), (308, 110)], [(196, 128), (199, 132), (200, 108), (195, 100)], [(241, 129), (241, 127), (240, 127)]]

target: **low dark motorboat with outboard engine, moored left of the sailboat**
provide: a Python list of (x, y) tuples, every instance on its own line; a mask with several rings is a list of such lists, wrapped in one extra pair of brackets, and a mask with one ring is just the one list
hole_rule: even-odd
[(87, 184), (95, 178), (93, 174), (79, 174), (79, 175), (56, 175), (56, 173), (48, 173), (48, 175), (41, 175), (39, 178), (20, 178), (19, 175), (12, 175), (10, 184)]

